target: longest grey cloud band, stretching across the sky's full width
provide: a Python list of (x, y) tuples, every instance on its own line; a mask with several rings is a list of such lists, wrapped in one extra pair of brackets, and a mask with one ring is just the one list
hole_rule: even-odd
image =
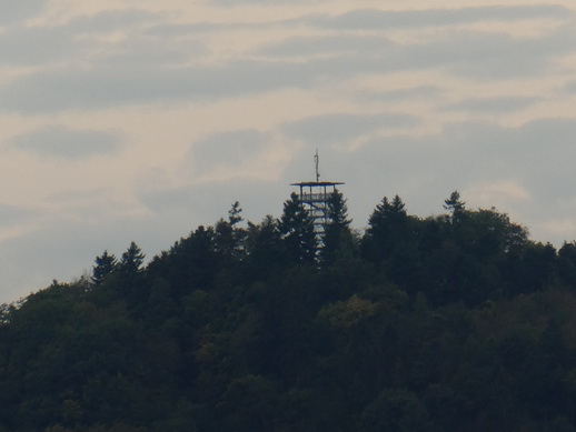
[[(0, 87), (0, 110), (49, 112), (67, 109), (98, 109), (130, 103), (170, 100), (215, 100), (285, 88), (307, 89), (358, 74), (386, 74), (403, 70), (444, 68), (465, 77), (485, 80), (535, 76), (553, 68), (559, 56), (574, 51), (574, 31), (559, 29), (539, 40), (514, 39), (505, 34), (464, 32), (445, 40), (400, 46), (378, 38), (350, 36), (332, 39), (310, 38), (292, 41), (310, 48), (306, 61), (280, 59), (234, 59), (219, 66), (165, 64), (153, 56), (146, 62), (146, 42), (127, 47), (120, 57), (141, 62), (101, 61), (91, 69), (52, 68)], [(277, 51), (296, 52), (296, 46), (278, 44)], [(329, 47), (332, 47), (330, 49)], [(338, 47), (347, 47), (342, 51)], [(365, 48), (360, 48), (365, 46)], [(161, 59), (162, 44), (156, 49)], [(356, 47), (356, 48), (355, 48)], [(130, 51), (130, 49), (132, 51)], [(182, 48), (183, 49), (183, 48)], [(274, 51), (270, 46), (268, 50)], [(139, 52), (142, 53), (139, 56)], [(173, 53), (173, 61), (192, 58)], [(317, 56), (315, 56), (315, 52)], [(331, 56), (322, 56), (329, 52)], [(156, 56), (156, 54), (155, 54)], [(172, 56), (172, 54), (168, 54)], [(182, 56), (181, 58), (179, 56)], [(115, 59), (116, 60), (116, 59)]]

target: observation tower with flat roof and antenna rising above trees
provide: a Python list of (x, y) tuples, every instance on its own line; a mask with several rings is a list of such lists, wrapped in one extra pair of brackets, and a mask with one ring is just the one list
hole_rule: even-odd
[(316, 164), (316, 181), (302, 181), (299, 183), (290, 183), (290, 185), (296, 185), (300, 189), (300, 202), (314, 220), (314, 231), (316, 232), (316, 238), (321, 244), (324, 227), (330, 222), (328, 211), (330, 195), (337, 192), (337, 185), (345, 183), (340, 181), (320, 181), (320, 158), (318, 157), (318, 150), (316, 150), (316, 154), (314, 155), (314, 162)]

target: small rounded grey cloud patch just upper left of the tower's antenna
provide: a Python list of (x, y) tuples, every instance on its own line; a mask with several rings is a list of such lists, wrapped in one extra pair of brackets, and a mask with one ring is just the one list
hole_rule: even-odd
[(269, 142), (266, 133), (247, 129), (211, 135), (192, 145), (195, 169), (205, 173), (215, 168), (234, 168), (254, 158)]

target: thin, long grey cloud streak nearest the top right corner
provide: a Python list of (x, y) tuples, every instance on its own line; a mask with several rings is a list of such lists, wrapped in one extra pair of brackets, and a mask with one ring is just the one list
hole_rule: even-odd
[(564, 20), (573, 12), (562, 6), (484, 7), (460, 9), (428, 9), (415, 11), (354, 10), (336, 17), (309, 17), (310, 23), (339, 30), (386, 30), (450, 26), (480, 21), (518, 21), (552, 18)]

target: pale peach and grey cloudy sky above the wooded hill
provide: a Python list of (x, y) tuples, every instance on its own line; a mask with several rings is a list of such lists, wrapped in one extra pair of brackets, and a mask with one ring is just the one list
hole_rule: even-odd
[(573, 0), (0, 0), (0, 302), (342, 181), (576, 239)]

